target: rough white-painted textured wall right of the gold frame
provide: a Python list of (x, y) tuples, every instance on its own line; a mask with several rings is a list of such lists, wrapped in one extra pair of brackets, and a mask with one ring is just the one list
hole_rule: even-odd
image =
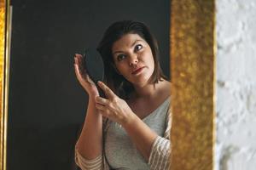
[(256, 1), (217, 0), (217, 170), (256, 169)]

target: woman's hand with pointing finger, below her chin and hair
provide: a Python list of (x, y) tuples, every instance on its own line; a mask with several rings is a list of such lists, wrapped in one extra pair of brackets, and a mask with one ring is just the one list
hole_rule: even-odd
[(108, 99), (97, 96), (96, 109), (100, 111), (102, 116), (108, 117), (113, 122), (118, 122), (121, 125), (129, 122), (135, 114), (131, 111), (125, 100), (120, 99), (103, 82), (98, 82), (98, 85), (102, 88)]

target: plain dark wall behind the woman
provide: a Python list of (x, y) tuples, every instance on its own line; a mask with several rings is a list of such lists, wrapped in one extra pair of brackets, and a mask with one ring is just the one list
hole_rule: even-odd
[(12, 0), (8, 170), (76, 169), (73, 146), (87, 96), (73, 54), (96, 46), (116, 20), (146, 23), (160, 42), (169, 77), (166, 0)]

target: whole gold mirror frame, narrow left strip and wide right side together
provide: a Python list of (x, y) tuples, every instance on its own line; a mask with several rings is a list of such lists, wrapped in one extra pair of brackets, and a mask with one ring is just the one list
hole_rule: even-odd
[[(215, 82), (214, 0), (172, 0), (172, 170), (212, 170)], [(0, 0), (0, 170), (6, 170), (9, 0)]]

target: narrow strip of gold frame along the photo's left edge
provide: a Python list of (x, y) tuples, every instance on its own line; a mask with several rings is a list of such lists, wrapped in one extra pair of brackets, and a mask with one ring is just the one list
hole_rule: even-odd
[(0, 170), (6, 169), (10, 50), (9, 0), (0, 0)]

